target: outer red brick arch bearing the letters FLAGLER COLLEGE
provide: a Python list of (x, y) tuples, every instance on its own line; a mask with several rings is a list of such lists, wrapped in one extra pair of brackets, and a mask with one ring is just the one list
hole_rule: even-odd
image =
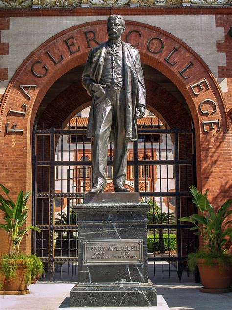
[[(211, 188), (210, 194), (215, 198), (221, 188), (222, 176), (229, 176), (230, 171), (229, 162), (219, 169), (222, 165), (220, 150), (226, 150), (230, 139), (230, 121), (216, 79), (200, 56), (170, 33), (134, 21), (126, 21), (126, 26), (123, 40), (137, 46), (141, 61), (162, 72), (185, 97), (196, 129), (198, 187)], [(97, 45), (95, 40), (102, 42), (106, 38), (105, 21), (73, 26), (44, 42), (15, 73), (4, 94), (0, 113), (1, 179), (12, 192), (31, 189), (31, 132), (46, 92), (58, 78), (86, 61), (90, 47)], [(25, 85), (31, 85), (31, 88)], [(212, 102), (217, 107), (215, 112)], [(26, 111), (22, 104), (27, 106)], [(10, 110), (22, 113), (15, 114)], [(214, 129), (210, 129), (208, 123), (209, 132), (204, 131), (203, 122), (217, 120), (220, 130), (217, 130), (218, 123), (213, 124)], [(209, 169), (209, 162), (214, 169)]]

